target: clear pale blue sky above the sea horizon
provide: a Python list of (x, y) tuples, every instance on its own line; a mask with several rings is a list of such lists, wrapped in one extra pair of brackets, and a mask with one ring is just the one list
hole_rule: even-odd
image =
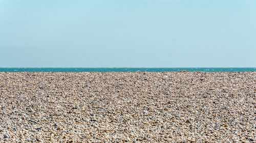
[(256, 67), (256, 1), (0, 0), (0, 67)]

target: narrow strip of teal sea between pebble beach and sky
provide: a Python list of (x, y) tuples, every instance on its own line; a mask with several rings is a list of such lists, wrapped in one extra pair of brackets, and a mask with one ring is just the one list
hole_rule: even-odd
[(248, 72), (256, 68), (0, 68), (0, 72)]

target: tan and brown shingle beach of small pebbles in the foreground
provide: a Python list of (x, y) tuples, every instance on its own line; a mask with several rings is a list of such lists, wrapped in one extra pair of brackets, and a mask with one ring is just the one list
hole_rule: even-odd
[(256, 142), (256, 72), (0, 72), (0, 142)]

